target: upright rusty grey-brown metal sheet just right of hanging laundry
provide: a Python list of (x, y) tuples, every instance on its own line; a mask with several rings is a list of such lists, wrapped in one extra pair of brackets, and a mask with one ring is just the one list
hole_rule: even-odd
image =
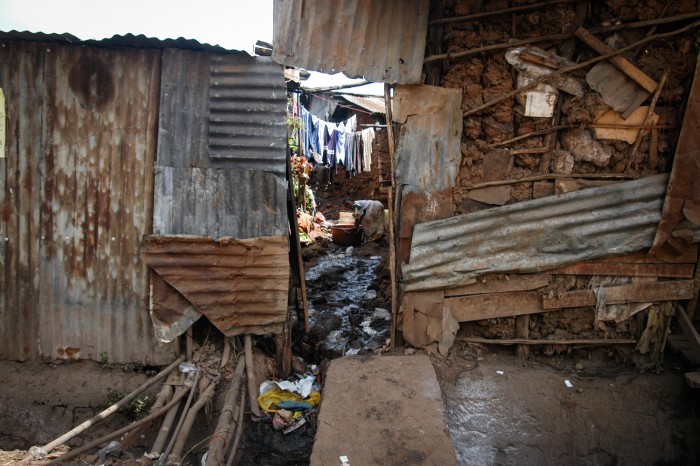
[(408, 261), (416, 224), (452, 215), (452, 188), (462, 156), (461, 102), (461, 89), (396, 87), (393, 116), (403, 125), (396, 149), (399, 264)]

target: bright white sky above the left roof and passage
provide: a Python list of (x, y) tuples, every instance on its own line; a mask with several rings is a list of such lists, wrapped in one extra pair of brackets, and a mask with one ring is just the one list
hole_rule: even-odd
[[(257, 40), (272, 42), (272, 0), (0, 0), (0, 31), (69, 33), (80, 39), (143, 34), (194, 39), (253, 55)], [(338, 73), (312, 73), (304, 87), (356, 82)], [(383, 95), (381, 84), (350, 88)]]

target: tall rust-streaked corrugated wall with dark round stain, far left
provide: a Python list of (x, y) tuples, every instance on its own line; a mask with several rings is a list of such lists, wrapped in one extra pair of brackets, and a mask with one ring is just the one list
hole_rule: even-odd
[(3, 40), (0, 358), (164, 364), (151, 228), (160, 52)]

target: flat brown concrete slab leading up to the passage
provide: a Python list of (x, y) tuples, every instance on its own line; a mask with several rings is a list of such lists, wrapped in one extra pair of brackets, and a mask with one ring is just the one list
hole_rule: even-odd
[(331, 362), (311, 466), (456, 465), (430, 359), (356, 356)]

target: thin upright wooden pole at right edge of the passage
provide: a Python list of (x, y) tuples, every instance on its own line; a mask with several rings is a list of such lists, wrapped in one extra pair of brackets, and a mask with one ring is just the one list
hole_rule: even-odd
[(396, 286), (396, 219), (399, 218), (399, 213), (394, 209), (394, 196), (396, 195), (396, 174), (394, 173), (394, 121), (391, 109), (391, 85), (384, 84), (384, 105), (386, 107), (386, 129), (387, 138), (389, 139), (389, 167), (391, 170), (391, 187), (389, 189), (389, 273), (391, 278), (391, 341), (390, 346), (393, 349), (396, 345), (396, 319), (398, 318), (399, 297)]

